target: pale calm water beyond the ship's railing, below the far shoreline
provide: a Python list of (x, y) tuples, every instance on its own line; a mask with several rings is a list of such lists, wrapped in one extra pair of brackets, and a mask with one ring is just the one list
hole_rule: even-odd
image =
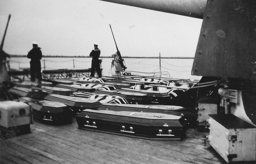
[[(113, 58), (102, 59), (102, 73), (111, 76), (111, 62)], [(152, 75), (152, 72), (160, 72), (160, 60), (158, 58), (123, 58), (127, 67), (126, 71), (132, 74)], [(50, 69), (88, 69), (91, 68), (91, 58), (83, 57), (43, 57), (41, 60), (42, 70)], [(199, 77), (191, 75), (194, 59), (161, 59), (161, 72), (172, 78), (197, 79)], [(24, 69), (30, 67), (30, 59), (26, 57), (12, 57), (9, 59), (10, 68)], [(143, 73), (141, 73), (143, 72)], [(159, 76), (159, 73), (155, 73)], [(163, 76), (163, 75), (162, 75)]]

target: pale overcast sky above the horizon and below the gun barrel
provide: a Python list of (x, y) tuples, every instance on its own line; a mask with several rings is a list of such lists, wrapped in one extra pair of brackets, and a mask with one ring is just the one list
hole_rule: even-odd
[(99, 0), (0, 0), (0, 38), (11, 20), (3, 49), (27, 55), (37, 42), (43, 55), (194, 57), (201, 19)]

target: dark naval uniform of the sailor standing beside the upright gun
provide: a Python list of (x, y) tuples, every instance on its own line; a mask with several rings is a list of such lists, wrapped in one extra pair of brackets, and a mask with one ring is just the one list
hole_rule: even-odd
[(94, 77), (95, 68), (98, 73), (98, 76), (100, 78), (102, 77), (100, 61), (99, 61), (100, 54), (101, 54), (101, 50), (98, 47), (94, 48), (90, 53), (90, 57), (92, 57), (92, 67), (91, 67), (91, 75), (90, 75), (91, 77)]

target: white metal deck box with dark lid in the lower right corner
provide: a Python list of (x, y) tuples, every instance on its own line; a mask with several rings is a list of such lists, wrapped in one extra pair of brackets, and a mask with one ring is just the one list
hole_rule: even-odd
[(227, 163), (253, 161), (256, 127), (233, 114), (209, 115), (210, 145)]

